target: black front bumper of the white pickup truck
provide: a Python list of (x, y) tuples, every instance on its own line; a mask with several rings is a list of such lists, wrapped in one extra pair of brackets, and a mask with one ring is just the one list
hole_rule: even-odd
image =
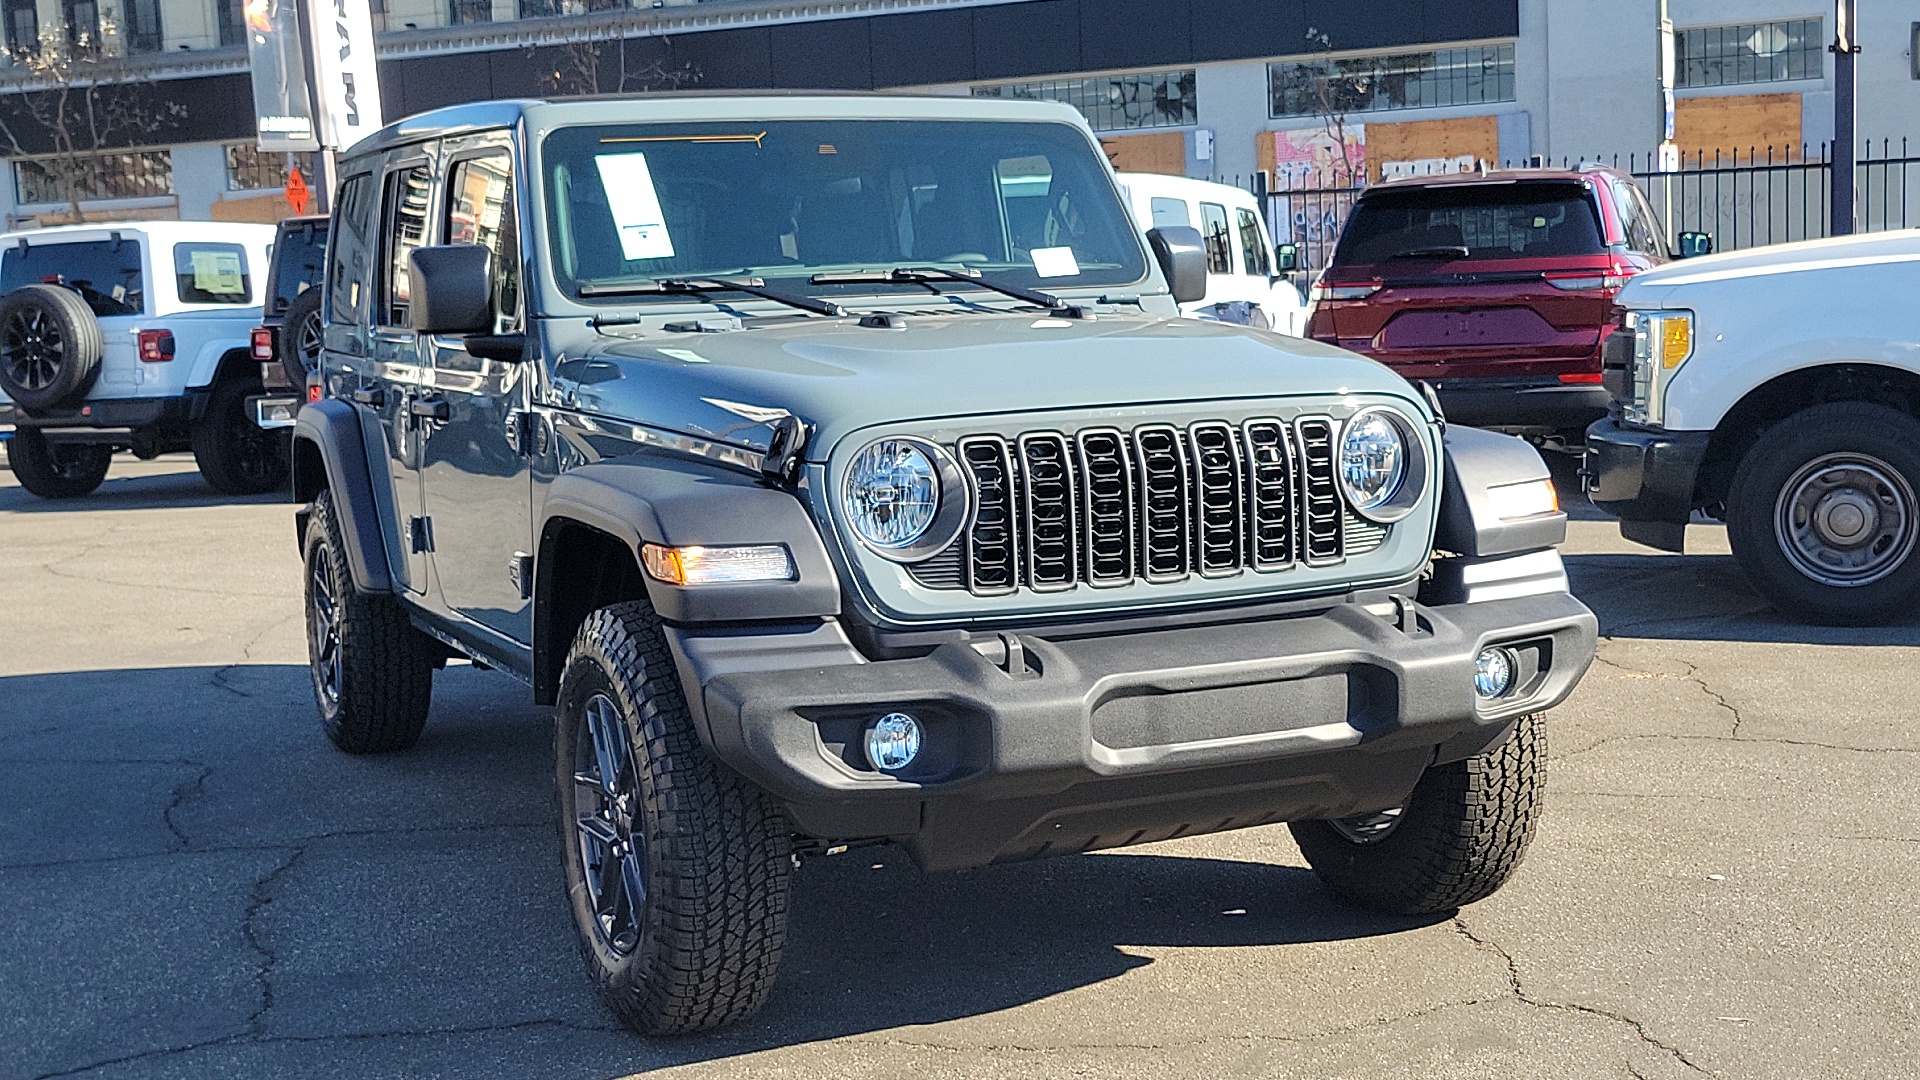
[(1588, 498), (1620, 519), (1628, 540), (1678, 552), (1709, 434), (1630, 429), (1613, 417), (1596, 423), (1586, 429)]

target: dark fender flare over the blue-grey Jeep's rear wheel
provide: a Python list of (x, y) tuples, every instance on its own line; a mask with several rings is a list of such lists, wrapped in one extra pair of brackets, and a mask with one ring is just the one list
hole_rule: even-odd
[[(334, 494), (353, 588), (394, 592), (359, 411), (338, 398), (301, 405), (294, 419), (294, 502), (311, 503), (321, 488)], [(303, 540), (307, 511), (298, 515), (296, 528)]]

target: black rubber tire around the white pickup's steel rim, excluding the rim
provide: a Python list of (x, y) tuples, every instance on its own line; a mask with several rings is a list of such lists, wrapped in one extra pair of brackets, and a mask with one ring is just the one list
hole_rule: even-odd
[[(1880, 503), (1882, 515), (1897, 505), (1897, 513), (1905, 515), (1905, 544), (1887, 538), (1880, 573), (1853, 573), (1849, 580), (1847, 571), (1836, 575), (1828, 569), (1828, 580), (1818, 580), (1803, 569), (1803, 563), (1820, 567), (1812, 555), (1801, 553), (1795, 559), (1788, 552), (1791, 540), (1776, 528), (1782, 500), (1789, 496), (1789, 488), (1809, 490), (1801, 488), (1805, 479), (1801, 475), (1822, 461), (1841, 469), (1836, 475), (1847, 475), (1849, 461), (1866, 465), (1868, 471), (1860, 471), (1860, 477), (1880, 473), (1884, 482), (1870, 484), (1874, 490), (1862, 490), (1860, 505)], [(1734, 548), (1734, 561), (1755, 592), (1789, 619), (1837, 626), (1907, 619), (1920, 603), (1916, 492), (1920, 492), (1920, 421), (1870, 402), (1814, 405), (1766, 429), (1740, 461), (1726, 492), (1726, 542)], [(1891, 523), (1891, 517), (1882, 521)], [(1857, 553), (1874, 561), (1870, 548), (1868, 542)]]

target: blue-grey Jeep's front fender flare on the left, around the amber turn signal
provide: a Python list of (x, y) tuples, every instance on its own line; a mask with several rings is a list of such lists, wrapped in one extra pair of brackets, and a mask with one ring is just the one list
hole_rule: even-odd
[[(540, 509), (534, 563), (536, 619), (561, 567), (551, 548), (564, 525), (584, 525), (620, 540), (639, 565), (641, 544), (781, 544), (793, 580), (676, 586), (641, 575), (655, 613), (668, 623), (768, 623), (839, 615), (839, 575), (812, 515), (793, 494), (701, 461), (636, 455), (582, 465), (547, 488)], [(540, 640), (540, 630), (534, 632)]]

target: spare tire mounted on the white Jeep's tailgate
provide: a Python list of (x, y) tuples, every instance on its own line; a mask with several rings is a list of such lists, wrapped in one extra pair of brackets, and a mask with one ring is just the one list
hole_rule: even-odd
[(84, 398), (100, 375), (100, 321), (58, 284), (23, 284), (0, 296), (0, 390), (29, 409)]

